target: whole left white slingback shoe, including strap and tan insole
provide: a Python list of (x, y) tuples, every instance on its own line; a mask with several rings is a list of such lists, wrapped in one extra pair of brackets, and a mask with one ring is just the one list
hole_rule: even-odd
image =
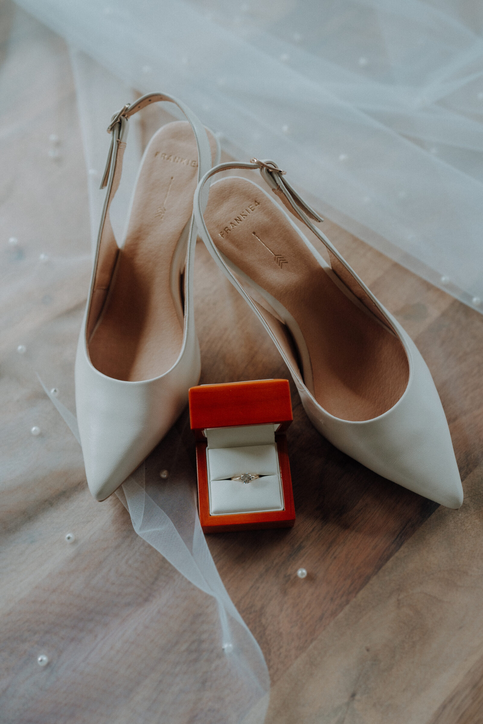
[[(188, 122), (151, 138), (118, 248), (109, 206), (119, 186), (128, 118), (170, 101)], [(193, 193), (219, 160), (219, 144), (185, 104), (165, 93), (114, 115), (101, 188), (107, 187), (91, 288), (75, 361), (75, 403), (85, 473), (104, 500), (164, 437), (201, 372), (193, 309), (197, 229)]]

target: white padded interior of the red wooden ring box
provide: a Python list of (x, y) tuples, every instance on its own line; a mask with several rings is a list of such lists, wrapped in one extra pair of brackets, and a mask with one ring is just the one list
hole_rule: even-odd
[[(205, 434), (211, 515), (283, 510), (274, 425), (215, 427)], [(262, 477), (230, 480), (241, 473)]]

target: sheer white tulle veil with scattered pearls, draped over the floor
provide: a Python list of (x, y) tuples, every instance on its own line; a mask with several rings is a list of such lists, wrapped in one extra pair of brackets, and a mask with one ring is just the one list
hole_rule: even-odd
[[(164, 90), (182, 98), (217, 132), (224, 151), (243, 160), (274, 159), (322, 214), (483, 312), (482, 4), (455, 0), (17, 0), (17, 5), (35, 17), (38, 27), (40, 21), (50, 29), (49, 37), (43, 39), (35, 30), (35, 53), (43, 54), (52, 77), (62, 72), (60, 65), (70, 58), (77, 110), (63, 117), (67, 102), (62, 106), (59, 96), (59, 125), (77, 128), (78, 124), (82, 136), (92, 245), (104, 201), (98, 187), (109, 148), (109, 119), (138, 93)], [(33, 33), (25, 13), (22, 17), (19, 32)], [(51, 30), (67, 42), (68, 55), (65, 46), (59, 50), (52, 44)], [(32, 58), (25, 56), (25, 67), (28, 62), (34, 67), (35, 53)], [(37, 148), (35, 128), (22, 124), (15, 119), (8, 129), (24, 139), (29, 151)], [(7, 160), (12, 153), (14, 163), (19, 163), (20, 146), (17, 151), (9, 147), (8, 129), (0, 137), (1, 148)], [(123, 180), (112, 206), (118, 239), (145, 145), (138, 116), (133, 117)], [(67, 196), (62, 180), (56, 183), (59, 198), (64, 192)], [(46, 193), (54, 188), (49, 184)], [(79, 207), (86, 208), (84, 179), (68, 193), (71, 200), (72, 194), (82, 196), (85, 206), (80, 203)], [(64, 495), (67, 501), (68, 495), (80, 495), (78, 480), (83, 475), (75, 442), (70, 363), (91, 256), (80, 243), (80, 219), (64, 218), (60, 204), (56, 211), (64, 224), (60, 231), (56, 224), (49, 226), (50, 219), (42, 222), (44, 230), (53, 230), (55, 253), (46, 256), (41, 240), (35, 259), (25, 258), (19, 271), (22, 240), (17, 244), (14, 239), (9, 247), (14, 271), (8, 271), (0, 292), (5, 301), (2, 319), (7, 320), (2, 344), (13, 350), (4, 370), (15, 379), (12, 405), (23, 405), (19, 428), (15, 422), (8, 430), (11, 449), (4, 464), (12, 479), (24, 476), (38, 482), (29, 494), (32, 505), (43, 511), (38, 518), (43, 526), (38, 529), (39, 539), (49, 538), (49, 531), (57, 531), (60, 525), (49, 512), (49, 496), (61, 499)], [(16, 213), (20, 218), (20, 211)], [(34, 238), (37, 227), (30, 225)], [(84, 232), (88, 237), (87, 229)], [(42, 233), (47, 236), (46, 231)], [(29, 317), (33, 309), (35, 315)], [(25, 322), (21, 344), (15, 327), (19, 319), (33, 319), (31, 324)], [(69, 352), (65, 352), (67, 347)], [(47, 395), (35, 372), (45, 383)], [(60, 397), (55, 388), (62, 390)], [(41, 423), (42, 431), (48, 424), (53, 432), (50, 447), (35, 453), (35, 458), (20, 444), (16, 447), (15, 441), (38, 419), (46, 421)], [(71, 558), (61, 560), (60, 553), (53, 563), (35, 563), (35, 571), (51, 565), (49, 576), (56, 581), (52, 590), (59, 592), (59, 600), (70, 586), (75, 601), (88, 613), (80, 618), (83, 626), (78, 631), (66, 624), (62, 633), (58, 658), (64, 656), (64, 668), (52, 666), (50, 688), (45, 685), (45, 695), (35, 704), (45, 718), (35, 719), (35, 710), (18, 704), (13, 713), (7, 712), (8, 721), (14, 721), (20, 710), (25, 721), (55, 720), (64, 710), (55, 708), (54, 702), (69, 699), (77, 707), (88, 691), (89, 704), (78, 721), (88, 720), (83, 715), (87, 717), (92, 705), (96, 720), (106, 723), (263, 722), (268, 670), (259, 644), (224, 588), (201, 532), (196, 473), (185, 451), (187, 425), (186, 416), (180, 418), (118, 491), (138, 533), (136, 545), (143, 549), (134, 551), (132, 540), (127, 546), (119, 515), (109, 518), (106, 506), (97, 506), (91, 513), (87, 503), (79, 504), (78, 528), (82, 529), (79, 521), (87, 520), (82, 516), (88, 515), (89, 524), (82, 529), (85, 540), (98, 542), (98, 559), (89, 563), (88, 599), (83, 598), (81, 586), (80, 547), (71, 546), (68, 554), (72, 560), (77, 556), (77, 567)], [(42, 436), (43, 432), (38, 435), (40, 442), (46, 439)], [(161, 467), (170, 471), (162, 487)], [(68, 495), (66, 480), (73, 481)], [(9, 505), (15, 506), (22, 492), (20, 484), (12, 486)], [(117, 501), (116, 506), (129, 523)], [(109, 570), (109, 531), (114, 528), (128, 572), (122, 579), (125, 583), (117, 587), (114, 573), (112, 580), (98, 580), (95, 570), (101, 564), (106, 565), (103, 571)], [(156, 551), (170, 565), (159, 563)], [(46, 611), (51, 634), (45, 645), (43, 639), (37, 645), (36, 631), (29, 629), (37, 647), (33, 650), (41, 653), (47, 644), (55, 649), (52, 641), (62, 627), (58, 611), (55, 617), (52, 613), (55, 604), (43, 598), (42, 586), (35, 590), (33, 610)], [(147, 643), (141, 650), (136, 644), (142, 629)], [(119, 652), (129, 651), (132, 656), (119, 689), (112, 686), (117, 646)], [(52, 654), (53, 659), (56, 655)], [(37, 691), (38, 672), (28, 668), (29, 661), (25, 658), (21, 672), (26, 699), (29, 686)], [(143, 699), (146, 682), (151, 682), (151, 691), (156, 687), (158, 691), (156, 701), (150, 699), (147, 704)]]

